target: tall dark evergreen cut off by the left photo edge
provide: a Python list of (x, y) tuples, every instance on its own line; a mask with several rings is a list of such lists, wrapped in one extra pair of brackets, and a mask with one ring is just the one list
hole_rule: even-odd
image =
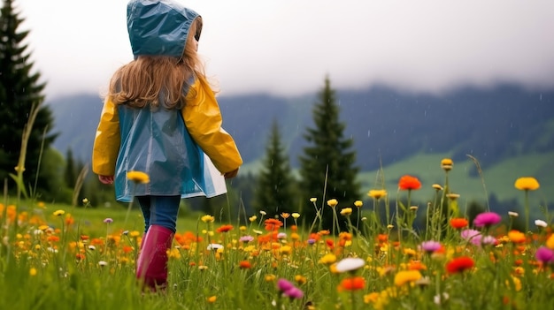
[[(13, 1), (5, 0), (0, 10), (0, 179), (8, 179), (14, 173), (21, 151), (21, 138), (31, 108), (36, 105), (38, 115), (27, 143), (27, 158), (24, 177), (26, 185), (37, 185), (38, 191), (49, 189), (51, 180), (37, 178), (39, 163), (44, 150), (47, 150), (56, 138), (49, 134), (53, 117), (50, 109), (42, 106), (44, 83), (39, 82), (40, 74), (32, 72), (33, 63), (26, 52), (23, 41), (28, 31), (18, 28), (24, 19), (14, 10)], [(12, 186), (10, 186), (12, 187)]]

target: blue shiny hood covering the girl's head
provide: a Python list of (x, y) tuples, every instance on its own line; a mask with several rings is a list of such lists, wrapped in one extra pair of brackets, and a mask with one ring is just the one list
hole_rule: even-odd
[[(192, 22), (201, 19), (171, 0), (131, 0), (127, 4), (127, 31), (133, 55), (181, 57)], [(200, 39), (202, 26), (195, 34)]]

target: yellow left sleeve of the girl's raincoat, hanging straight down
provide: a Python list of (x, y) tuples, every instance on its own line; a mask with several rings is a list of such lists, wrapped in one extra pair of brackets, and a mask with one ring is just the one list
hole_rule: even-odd
[(118, 159), (119, 116), (117, 106), (106, 97), (92, 150), (92, 170), (98, 175), (113, 176)]

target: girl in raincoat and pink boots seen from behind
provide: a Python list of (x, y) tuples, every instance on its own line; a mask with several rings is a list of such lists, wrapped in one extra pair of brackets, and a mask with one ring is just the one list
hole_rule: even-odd
[[(115, 183), (117, 200), (138, 200), (145, 234), (136, 276), (156, 290), (165, 287), (181, 198), (222, 193), (209, 167), (223, 176), (216, 178), (234, 178), (242, 158), (221, 128), (196, 54), (202, 18), (172, 0), (131, 0), (127, 30), (135, 60), (112, 76), (92, 169), (100, 182)], [(130, 180), (129, 171), (145, 172), (150, 182)]]

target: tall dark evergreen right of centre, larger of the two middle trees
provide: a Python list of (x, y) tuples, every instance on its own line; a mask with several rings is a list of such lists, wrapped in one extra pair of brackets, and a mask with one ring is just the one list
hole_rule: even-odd
[[(356, 153), (351, 149), (353, 140), (342, 137), (345, 125), (339, 120), (335, 90), (331, 88), (328, 77), (318, 99), (312, 110), (315, 127), (307, 128), (304, 134), (308, 146), (304, 147), (304, 154), (299, 158), (299, 187), (304, 191), (303, 200), (308, 204), (302, 211), (305, 223), (312, 223), (316, 217), (316, 209), (309, 202), (311, 198), (316, 198), (319, 201), (317, 208), (321, 209), (323, 217), (322, 228), (331, 230), (334, 217), (331, 208), (327, 207), (327, 200), (338, 200), (335, 207), (337, 214), (342, 208), (350, 207), (353, 211), (351, 216), (357, 215), (358, 208), (354, 208), (353, 204), (360, 199), (359, 168), (355, 166)], [(338, 217), (343, 231), (346, 222), (342, 215)]]

